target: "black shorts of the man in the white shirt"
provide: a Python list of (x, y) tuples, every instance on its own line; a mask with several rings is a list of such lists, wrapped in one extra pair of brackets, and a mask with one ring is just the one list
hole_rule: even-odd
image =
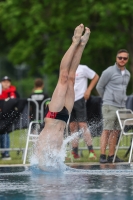
[(74, 106), (70, 117), (70, 122), (73, 121), (77, 122), (87, 121), (86, 102), (84, 97), (74, 102)]

